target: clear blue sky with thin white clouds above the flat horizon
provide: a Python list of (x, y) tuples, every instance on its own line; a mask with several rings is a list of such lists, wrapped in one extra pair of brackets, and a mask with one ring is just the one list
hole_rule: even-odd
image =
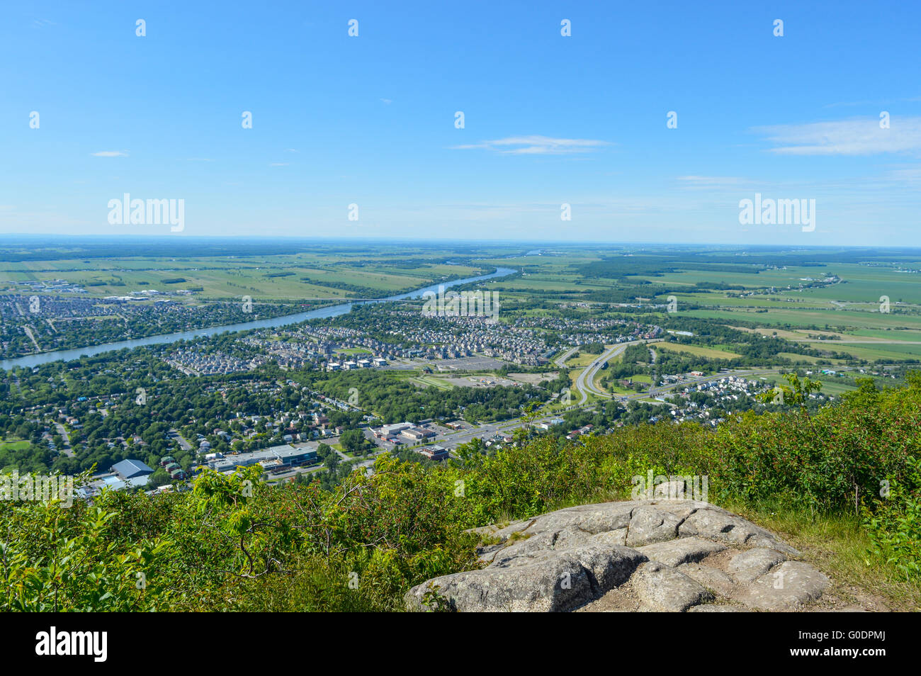
[(921, 246), (921, 5), (803, 5), (7, 5), (0, 233)]

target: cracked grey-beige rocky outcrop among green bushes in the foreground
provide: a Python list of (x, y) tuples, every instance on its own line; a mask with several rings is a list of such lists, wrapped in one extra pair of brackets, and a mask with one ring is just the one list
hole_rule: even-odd
[(581, 505), (474, 532), (484, 567), (410, 589), (407, 609), (796, 611), (830, 584), (770, 531), (694, 500)]

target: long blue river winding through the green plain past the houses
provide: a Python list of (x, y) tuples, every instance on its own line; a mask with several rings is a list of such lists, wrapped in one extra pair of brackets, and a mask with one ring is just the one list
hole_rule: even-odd
[[(441, 282), (440, 284), (424, 286), (423, 288), (416, 289), (415, 291), (409, 291), (408, 293), (400, 294), (399, 296), (390, 296), (386, 298), (379, 298), (377, 300), (363, 300), (358, 304), (363, 305), (365, 303), (382, 303), (388, 300), (406, 300), (407, 298), (422, 297), (426, 291), (437, 293), (438, 286), (444, 286), (445, 288), (449, 288), (450, 286), (460, 286), (461, 284), (478, 282), (483, 279), (504, 277), (507, 274), (512, 274), (514, 272), (517, 271), (513, 268), (496, 267), (495, 273), (481, 274), (478, 277), (455, 279), (450, 282)], [(330, 305), (320, 309), (310, 309), (306, 312), (298, 312), (297, 314), (293, 315), (274, 317), (268, 320), (244, 321), (239, 324), (227, 324), (225, 326), (212, 326), (206, 329), (192, 329), (191, 331), (164, 333), (162, 335), (147, 336), (146, 338), (132, 338), (130, 340), (119, 341), (117, 343), (103, 343), (99, 345), (90, 345), (88, 347), (76, 347), (68, 350), (41, 352), (37, 355), (18, 356), (14, 359), (4, 359), (3, 361), (0, 361), (0, 368), (8, 371), (13, 367), (37, 367), (41, 364), (47, 364), (52, 361), (72, 361), (74, 359), (80, 358), (81, 356), (101, 355), (104, 352), (122, 350), (126, 347), (131, 348), (140, 347), (142, 345), (176, 343), (177, 341), (190, 340), (192, 338), (198, 338), (203, 335), (216, 335), (217, 333), (224, 332), (248, 331), (250, 329), (273, 329), (279, 326), (286, 326), (288, 324), (297, 324), (300, 321), (338, 317), (339, 315), (344, 315), (346, 312), (350, 311), (353, 305), (355, 305), (355, 303), (342, 303), (340, 305)]]

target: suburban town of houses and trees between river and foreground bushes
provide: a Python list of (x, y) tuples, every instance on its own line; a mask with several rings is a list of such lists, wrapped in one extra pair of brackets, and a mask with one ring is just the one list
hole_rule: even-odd
[[(547, 434), (574, 440), (610, 433), (624, 425), (628, 412), (630, 420), (642, 419), (653, 424), (664, 418), (674, 423), (694, 421), (716, 426), (732, 412), (764, 406), (756, 398), (771, 390), (773, 379), (770, 383), (768, 379), (777, 375), (777, 369), (772, 367), (736, 369), (735, 373), (718, 369), (709, 375), (694, 370), (661, 374), (646, 387), (611, 393), (600, 384), (608, 360), (630, 346), (654, 347), (662, 335), (667, 335), (659, 326), (625, 320), (549, 317), (486, 324), (475, 317), (426, 318), (399, 305), (368, 308), (365, 315), (362, 321), (367, 318), (370, 321), (364, 329), (341, 325), (355, 323), (345, 316), (283, 330), (231, 334), (219, 341), (197, 339), (189, 346), (151, 348), (173, 369), (167, 372), (165, 380), (235, 374), (257, 376), (205, 384), (204, 393), (222, 401), (241, 396), (245, 401), (246, 397), (258, 394), (282, 402), (289, 399), (286, 392), (295, 391), (296, 403), (290, 407), (276, 404), (265, 414), (244, 408), (229, 418), (218, 416), (210, 422), (195, 415), (187, 416), (185, 425), (178, 425), (181, 429), (164, 430), (166, 451), (158, 458), (150, 455), (150, 449), (164, 446), (152, 444), (149, 438), (136, 434), (100, 437), (94, 443), (103, 443), (116, 456), (134, 453), (156, 461), (148, 460), (147, 464), (141, 458), (129, 457), (111, 467), (99, 467), (99, 473), (82, 489), (84, 495), (94, 495), (103, 487), (111, 490), (146, 487), (154, 492), (183, 490), (204, 468), (234, 472), (240, 467), (258, 465), (267, 481), (291, 481), (298, 475), (327, 472), (326, 460), (331, 456), (337, 463), (373, 472), (374, 460), (381, 452), (410, 452), (417, 461), (432, 462), (456, 457), (459, 447), (470, 444), (480, 444), (487, 452), (495, 453), (516, 443), (515, 431), (523, 426), (527, 426), (531, 436)], [(548, 332), (555, 336), (553, 345), (542, 337)], [(386, 340), (374, 336), (386, 336)], [(600, 349), (600, 355), (582, 371), (582, 377), (572, 387), (557, 387), (555, 383), (567, 370), (567, 359), (577, 355), (579, 348), (596, 344), (607, 347)], [(533, 375), (507, 370), (516, 366), (538, 370)], [(438, 387), (521, 390), (550, 382), (556, 389), (534, 390), (542, 394), (533, 398), (527, 422), (520, 414), (504, 420), (469, 419), (461, 406), (453, 419), (417, 418), (415, 422), (384, 423), (376, 411), (362, 406), (359, 388), (353, 388), (349, 396), (337, 398), (322, 385), (258, 377), (265, 367), (277, 367), (279, 373), (329, 374), (323, 378), (340, 378), (340, 375), (344, 378), (346, 372), (353, 371), (418, 374), (412, 376), (416, 385), (430, 391), (437, 391), (431, 388)], [(359, 375), (356, 373), (356, 377)], [(631, 379), (618, 382), (630, 385)], [(53, 414), (41, 414), (43, 407), (37, 406), (33, 407), (34, 417), (29, 420), (42, 430), (42, 443), (48, 449), (73, 456), (77, 447), (86, 445), (86, 441), (81, 444), (86, 438), (85, 425), (95, 425), (126, 406), (144, 406), (153, 401), (156, 396), (153, 391), (136, 397), (131, 392), (79, 397), (56, 407)], [(142, 402), (142, 396), (151, 397), (151, 401)], [(811, 396), (818, 402), (824, 400), (822, 394)], [(615, 414), (616, 411), (623, 415)], [(597, 423), (578, 422), (585, 414), (600, 417)], [(356, 430), (360, 438), (356, 442), (353, 435), (346, 447), (342, 440), (350, 430)], [(156, 485), (147, 486), (148, 480), (156, 478), (155, 472), (161, 478)]]

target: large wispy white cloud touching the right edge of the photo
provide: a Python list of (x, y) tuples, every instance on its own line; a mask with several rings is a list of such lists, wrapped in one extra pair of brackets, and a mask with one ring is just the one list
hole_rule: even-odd
[(892, 117), (889, 129), (880, 119), (861, 118), (840, 122), (778, 124), (754, 127), (775, 147), (778, 155), (878, 155), (921, 151), (921, 117)]

